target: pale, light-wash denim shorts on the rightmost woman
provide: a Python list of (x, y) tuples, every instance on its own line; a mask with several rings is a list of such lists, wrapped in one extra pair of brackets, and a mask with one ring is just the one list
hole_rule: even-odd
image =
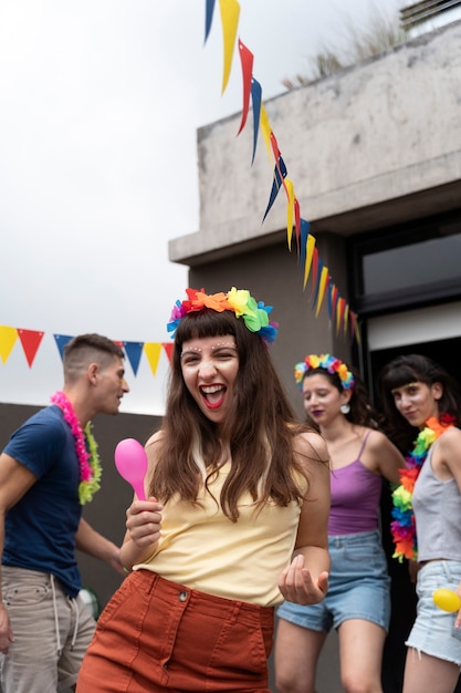
[(432, 597), (441, 587), (455, 590), (460, 581), (459, 560), (437, 560), (422, 566), (417, 581), (417, 617), (405, 643), (408, 648), (461, 665), (461, 628), (453, 628), (457, 613), (439, 609)]

